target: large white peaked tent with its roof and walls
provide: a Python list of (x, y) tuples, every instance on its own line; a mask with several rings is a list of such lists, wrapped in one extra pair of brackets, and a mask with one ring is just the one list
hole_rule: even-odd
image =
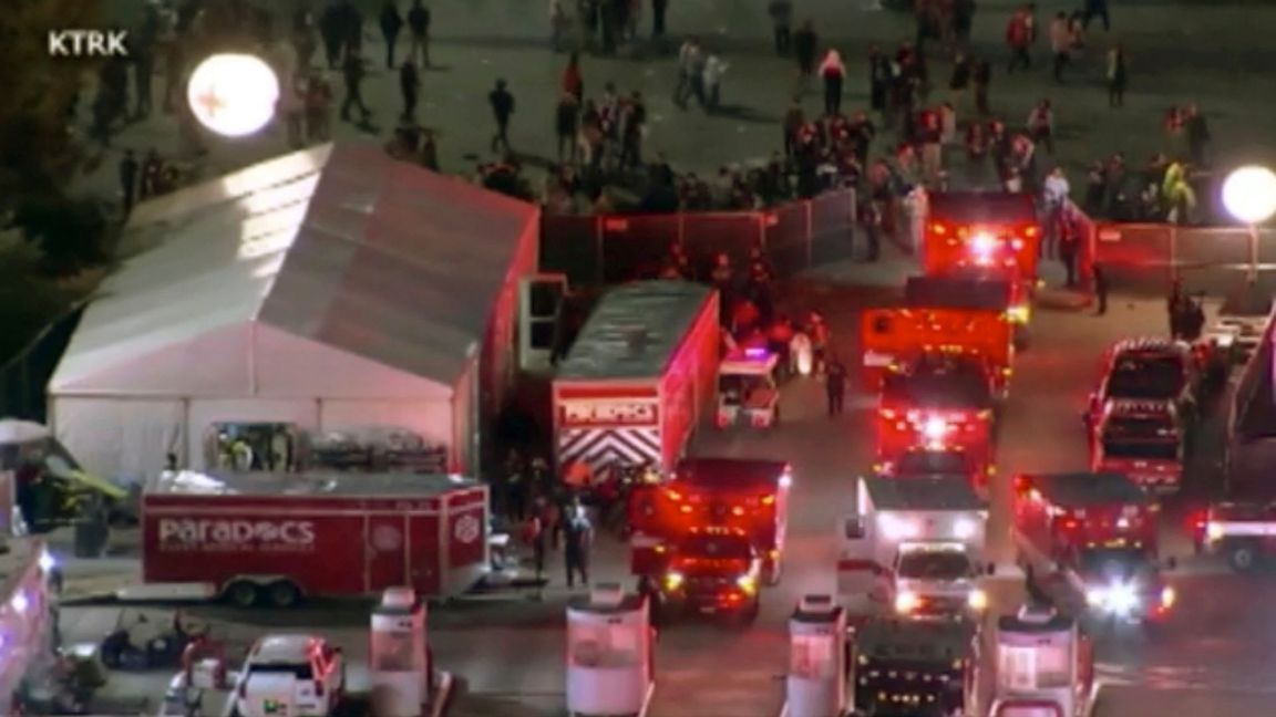
[(324, 145), (145, 203), (50, 381), (87, 468), (205, 467), (225, 422), (387, 425), (472, 466), (510, 374), (538, 212), (374, 147)]

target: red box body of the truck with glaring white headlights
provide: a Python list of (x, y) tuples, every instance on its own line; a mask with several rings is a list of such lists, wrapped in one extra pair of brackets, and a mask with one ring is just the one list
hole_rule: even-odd
[(1095, 547), (1157, 555), (1160, 506), (1123, 473), (1018, 475), (1013, 486), (1013, 538), (1025, 568), (1076, 568)]

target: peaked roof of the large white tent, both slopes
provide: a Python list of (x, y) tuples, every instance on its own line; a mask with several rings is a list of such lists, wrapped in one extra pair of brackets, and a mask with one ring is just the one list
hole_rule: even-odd
[(103, 283), (50, 390), (129, 392), (130, 365), (248, 324), (450, 389), (537, 219), (530, 204), (343, 144), (144, 203), (125, 241), (154, 249)]

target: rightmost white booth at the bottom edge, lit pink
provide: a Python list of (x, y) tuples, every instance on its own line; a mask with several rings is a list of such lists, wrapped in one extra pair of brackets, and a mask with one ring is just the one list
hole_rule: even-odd
[(1094, 702), (1094, 651), (1074, 617), (1025, 606), (997, 621), (990, 717), (1083, 717)]

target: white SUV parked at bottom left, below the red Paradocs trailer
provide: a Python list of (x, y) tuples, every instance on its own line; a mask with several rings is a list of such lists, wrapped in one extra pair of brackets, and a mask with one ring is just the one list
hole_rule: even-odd
[(346, 689), (341, 648), (313, 635), (267, 635), (235, 689), (236, 717), (329, 717)]

